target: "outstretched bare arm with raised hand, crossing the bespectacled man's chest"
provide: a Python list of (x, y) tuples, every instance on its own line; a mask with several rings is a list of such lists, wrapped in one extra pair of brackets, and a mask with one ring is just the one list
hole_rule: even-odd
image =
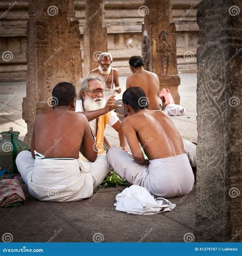
[(83, 111), (80, 113), (82, 113), (87, 118), (88, 122), (90, 122), (91, 120), (96, 119), (104, 114), (107, 114), (108, 112), (110, 112), (116, 108), (119, 108), (121, 106), (121, 105), (118, 105), (118, 106), (114, 105), (114, 103), (116, 102), (114, 97), (115, 96), (111, 96), (108, 99), (108, 101), (103, 109), (93, 110), (93, 111)]

